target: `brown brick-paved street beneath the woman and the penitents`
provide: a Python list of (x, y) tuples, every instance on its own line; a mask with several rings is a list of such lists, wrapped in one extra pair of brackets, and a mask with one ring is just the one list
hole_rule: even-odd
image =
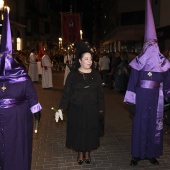
[(53, 73), (54, 88), (44, 90), (41, 82), (35, 83), (39, 101), (43, 107), (38, 133), (34, 134), (32, 170), (170, 170), (170, 134), (164, 135), (164, 154), (154, 166), (147, 160), (136, 167), (131, 160), (131, 114), (123, 103), (123, 95), (104, 88), (105, 95), (105, 135), (101, 146), (91, 153), (92, 162), (78, 165), (77, 153), (65, 148), (66, 122), (54, 120), (63, 92), (63, 71)]

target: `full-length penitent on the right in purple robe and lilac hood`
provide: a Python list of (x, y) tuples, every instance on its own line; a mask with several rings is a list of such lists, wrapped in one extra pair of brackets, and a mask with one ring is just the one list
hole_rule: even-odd
[[(132, 69), (124, 102), (135, 104), (132, 157), (156, 160), (163, 153), (163, 105), (169, 91), (170, 63), (159, 51), (150, 3), (151, 0), (146, 0), (143, 51), (130, 63)], [(137, 164), (132, 160), (131, 165)]]

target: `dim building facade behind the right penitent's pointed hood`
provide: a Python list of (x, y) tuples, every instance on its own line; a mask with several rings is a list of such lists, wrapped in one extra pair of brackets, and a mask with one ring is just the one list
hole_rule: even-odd
[[(94, 32), (94, 41), (100, 37), (101, 51), (129, 51), (139, 52), (143, 47), (145, 31), (145, 0), (94, 0), (100, 3), (100, 27), (102, 34)], [(152, 9), (157, 29), (158, 42), (161, 51), (168, 48), (169, 25), (170, 25), (170, 1), (169, 0), (151, 0)], [(97, 21), (95, 21), (97, 22)], [(98, 23), (94, 24), (94, 28)], [(98, 46), (98, 44), (96, 44)]]

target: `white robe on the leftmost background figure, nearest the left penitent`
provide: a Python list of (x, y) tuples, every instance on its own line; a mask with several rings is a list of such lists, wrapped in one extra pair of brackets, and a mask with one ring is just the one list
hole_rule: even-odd
[(29, 69), (28, 69), (28, 75), (31, 77), (32, 81), (38, 81), (39, 76), (38, 76), (38, 66), (36, 62), (36, 55), (34, 53), (30, 54), (29, 57)]

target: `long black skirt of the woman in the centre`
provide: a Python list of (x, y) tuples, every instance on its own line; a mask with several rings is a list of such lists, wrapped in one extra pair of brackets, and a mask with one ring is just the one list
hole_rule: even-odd
[(91, 151), (100, 146), (99, 110), (88, 95), (80, 105), (70, 104), (67, 113), (66, 147), (75, 151)]

